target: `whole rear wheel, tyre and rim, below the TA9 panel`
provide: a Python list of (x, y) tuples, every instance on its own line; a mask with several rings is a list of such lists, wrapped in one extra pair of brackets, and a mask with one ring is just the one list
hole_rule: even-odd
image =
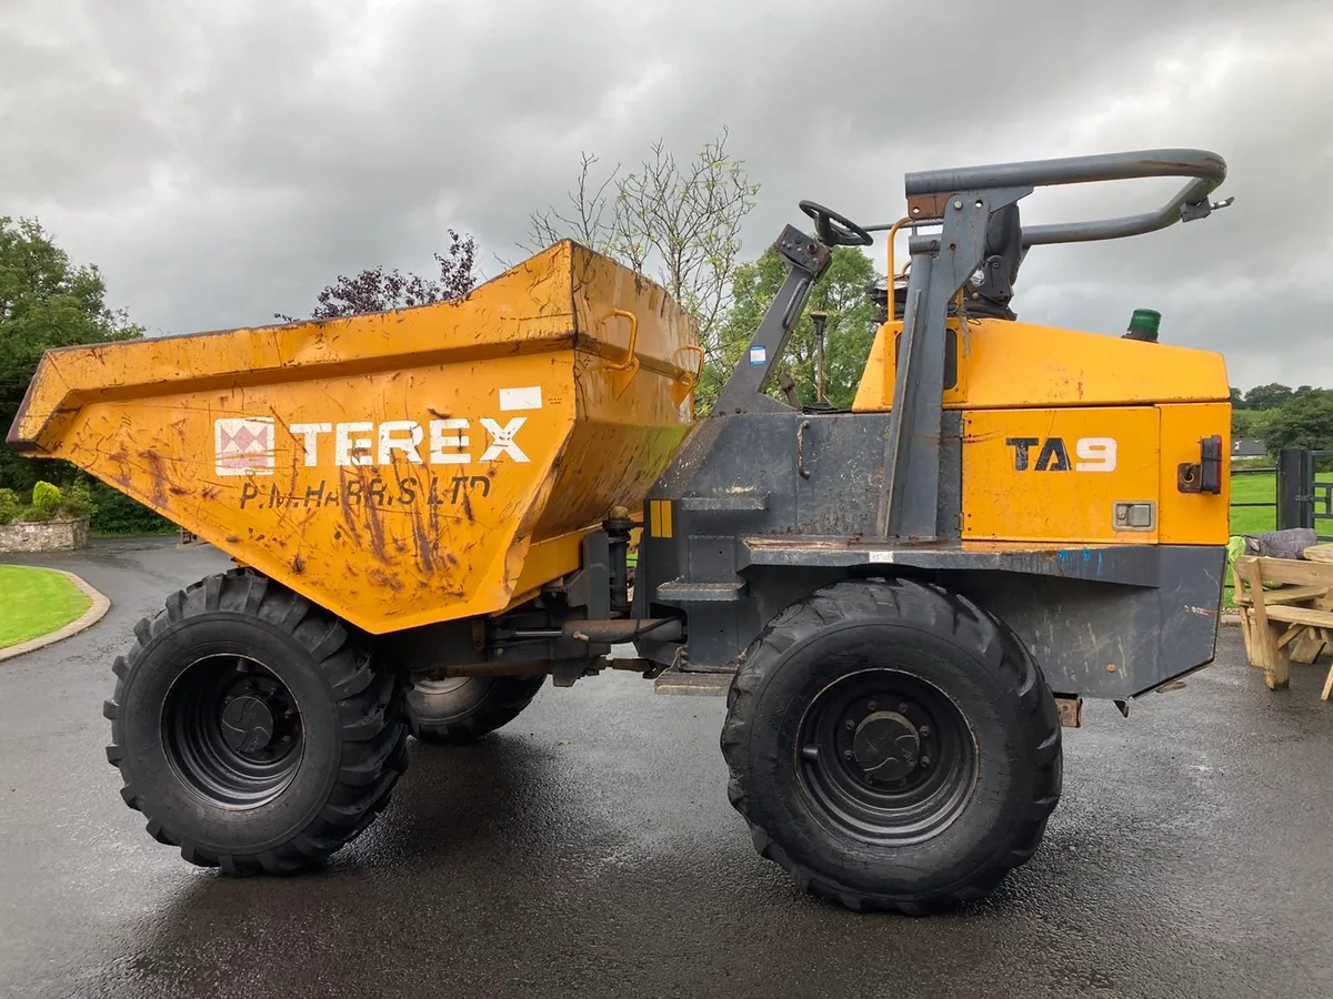
[(990, 894), (1060, 799), (1054, 699), (965, 599), (902, 579), (793, 605), (745, 653), (721, 737), (758, 852), (853, 910)]

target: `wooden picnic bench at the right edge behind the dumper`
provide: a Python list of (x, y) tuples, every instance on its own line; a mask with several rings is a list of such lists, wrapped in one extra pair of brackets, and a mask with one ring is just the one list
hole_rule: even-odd
[[(1333, 651), (1333, 563), (1241, 555), (1232, 562), (1236, 606), (1250, 666), (1269, 690), (1289, 682), (1292, 662)], [(1333, 698), (1333, 669), (1322, 699)]]

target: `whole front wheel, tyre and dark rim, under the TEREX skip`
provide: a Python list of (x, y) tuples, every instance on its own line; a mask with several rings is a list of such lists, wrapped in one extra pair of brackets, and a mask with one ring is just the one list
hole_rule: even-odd
[(363, 634), (264, 575), (211, 575), (135, 626), (107, 759), (160, 843), (228, 874), (313, 866), (407, 769), (399, 675)]

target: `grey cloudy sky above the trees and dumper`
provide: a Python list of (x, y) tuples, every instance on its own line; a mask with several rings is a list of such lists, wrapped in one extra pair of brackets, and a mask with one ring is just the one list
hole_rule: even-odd
[[(801, 197), (898, 217), (906, 170), (1204, 147), (1232, 208), (1033, 250), (1020, 316), (1118, 333), (1157, 308), (1233, 384), (1333, 386), (1329, 52), (1328, 0), (0, 0), (0, 214), (183, 333), (428, 270), (449, 226), (493, 276), (581, 151), (688, 155), (724, 124), (762, 184), (746, 256)], [(1174, 186), (1038, 192), (1025, 221)]]

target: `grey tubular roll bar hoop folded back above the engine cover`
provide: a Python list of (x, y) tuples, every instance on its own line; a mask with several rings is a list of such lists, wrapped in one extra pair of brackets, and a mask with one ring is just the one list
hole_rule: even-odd
[(917, 170), (906, 174), (908, 213), (913, 220), (921, 221), (941, 218), (948, 196), (961, 190), (1097, 184), (1144, 177), (1193, 177), (1193, 180), (1156, 212), (1088, 222), (1026, 226), (1022, 230), (1022, 245), (1118, 240), (1165, 229), (1181, 220), (1202, 218), (1213, 209), (1208, 200), (1209, 194), (1226, 180), (1226, 161), (1206, 149), (1140, 149), (993, 166)]

